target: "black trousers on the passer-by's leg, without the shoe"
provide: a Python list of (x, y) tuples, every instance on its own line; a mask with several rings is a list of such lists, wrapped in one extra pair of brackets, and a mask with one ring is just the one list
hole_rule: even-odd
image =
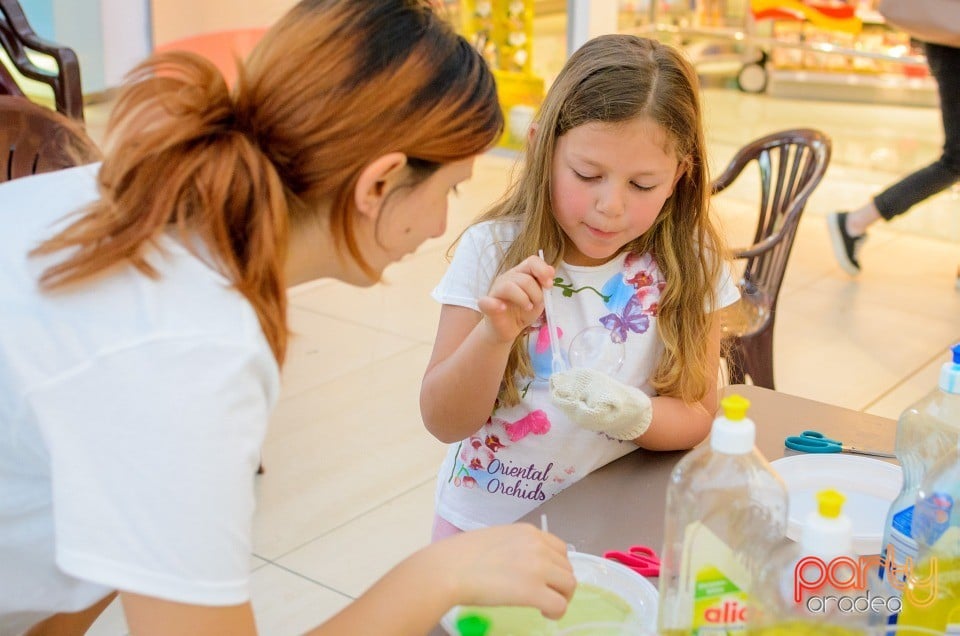
[(877, 211), (888, 221), (960, 181), (960, 49), (930, 43), (924, 49), (940, 93), (943, 154), (874, 197)]

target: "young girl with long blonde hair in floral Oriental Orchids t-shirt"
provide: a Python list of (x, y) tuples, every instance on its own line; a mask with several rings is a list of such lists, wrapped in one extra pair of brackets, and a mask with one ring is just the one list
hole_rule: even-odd
[[(669, 46), (587, 42), (544, 100), (518, 183), (461, 236), (420, 395), (450, 444), (435, 538), (515, 520), (637, 446), (706, 436), (716, 312), (738, 293), (708, 214), (697, 86)], [(553, 338), (573, 372), (552, 368)]]

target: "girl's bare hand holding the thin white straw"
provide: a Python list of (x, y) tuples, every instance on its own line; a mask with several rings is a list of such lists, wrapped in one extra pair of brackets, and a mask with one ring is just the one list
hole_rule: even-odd
[(482, 329), (494, 342), (513, 342), (543, 313), (543, 289), (553, 286), (553, 267), (539, 256), (497, 276), (486, 296), (479, 300)]

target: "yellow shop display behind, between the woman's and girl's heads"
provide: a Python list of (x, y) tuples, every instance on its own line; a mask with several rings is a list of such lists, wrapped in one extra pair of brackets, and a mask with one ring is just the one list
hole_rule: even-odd
[(532, 70), (533, 0), (462, 0), (463, 35), (479, 50), (497, 79), (507, 122), (500, 146), (519, 149), (543, 101), (544, 81)]

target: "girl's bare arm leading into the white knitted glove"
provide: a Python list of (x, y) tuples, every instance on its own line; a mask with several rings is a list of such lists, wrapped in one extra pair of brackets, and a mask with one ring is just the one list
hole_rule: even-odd
[[(720, 371), (720, 319), (713, 312), (707, 342), (707, 355), (713, 361), (708, 378), (718, 377)], [(651, 398), (653, 419), (647, 431), (634, 440), (641, 448), (649, 450), (686, 450), (702, 442), (710, 433), (710, 426), (717, 411), (718, 391), (708, 382), (707, 392), (699, 402), (687, 404), (674, 397)]]

